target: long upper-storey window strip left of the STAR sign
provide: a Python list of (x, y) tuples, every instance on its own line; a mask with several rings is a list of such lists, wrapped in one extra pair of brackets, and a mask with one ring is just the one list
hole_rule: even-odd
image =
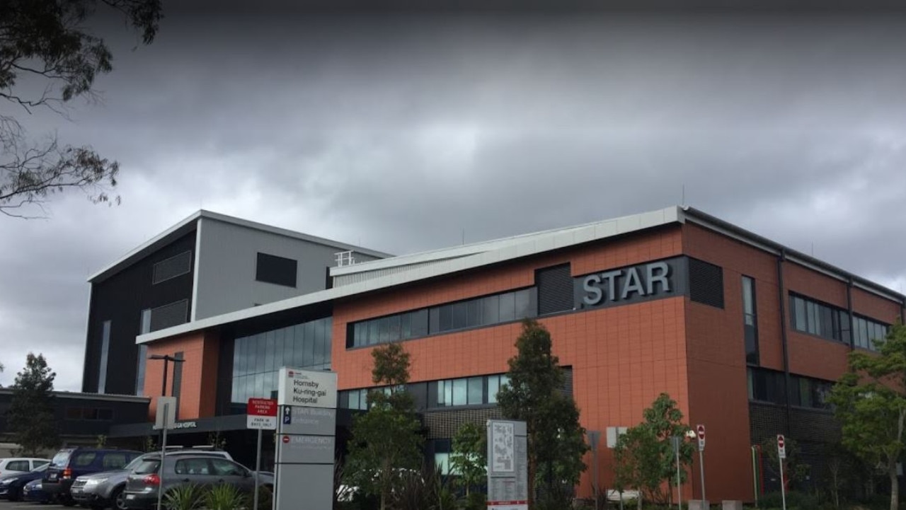
[(349, 326), (346, 347), (400, 342), (439, 332), (536, 317), (537, 314), (537, 290), (530, 287), (354, 322)]

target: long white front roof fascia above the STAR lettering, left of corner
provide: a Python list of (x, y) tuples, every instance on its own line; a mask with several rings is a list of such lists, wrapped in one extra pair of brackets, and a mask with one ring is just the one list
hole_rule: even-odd
[(189, 332), (197, 332), (207, 328), (215, 327), (229, 322), (243, 321), (252, 319), (268, 313), (283, 312), (294, 308), (314, 303), (323, 303), (334, 299), (347, 297), (359, 293), (367, 293), (380, 290), (383, 288), (393, 287), (401, 284), (410, 284), (444, 274), (458, 273), (467, 269), (474, 269), (483, 265), (491, 265), (507, 260), (522, 258), (528, 255), (536, 255), (550, 251), (554, 248), (568, 247), (579, 245), (589, 241), (595, 241), (612, 236), (629, 234), (631, 232), (651, 228), (652, 226), (668, 225), (681, 221), (679, 207), (667, 207), (659, 211), (643, 213), (634, 217), (622, 217), (616, 219), (604, 220), (597, 223), (587, 224), (585, 226), (569, 227), (557, 231), (548, 231), (554, 242), (548, 242), (544, 238), (529, 239), (525, 243), (504, 245), (496, 250), (478, 253), (470, 256), (463, 256), (446, 261), (441, 261), (437, 265), (420, 266), (413, 268), (411, 271), (388, 274), (364, 282), (342, 285), (304, 295), (266, 303), (245, 310), (224, 313), (214, 317), (207, 317), (196, 322), (186, 322), (167, 329), (156, 332), (149, 332), (140, 335), (136, 343), (154, 342), (160, 339), (178, 336)]

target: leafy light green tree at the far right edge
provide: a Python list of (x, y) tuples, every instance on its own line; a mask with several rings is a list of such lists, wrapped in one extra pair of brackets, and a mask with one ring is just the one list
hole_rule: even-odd
[(850, 353), (849, 371), (834, 385), (830, 401), (843, 426), (843, 446), (890, 477), (891, 510), (897, 510), (897, 462), (906, 425), (906, 326), (893, 324), (874, 345), (877, 354)]

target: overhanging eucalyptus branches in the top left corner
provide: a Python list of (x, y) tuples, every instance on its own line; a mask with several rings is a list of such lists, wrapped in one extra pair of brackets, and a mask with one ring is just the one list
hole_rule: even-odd
[[(68, 101), (95, 97), (94, 79), (113, 69), (110, 49), (86, 28), (99, 5), (125, 16), (143, 43), (153, 42), (160, 0), (0, 2), (0, 99), (25, 114), (46, 108), (65, 117)], [(13, 115), (0, 114), (0, 147), (0, 213), (8, 216), (32, 217), (49, 195), (72, 188), (109, 202), (117, 185), (116, 161), (89, 146), (61, 145), (55, 136), (34, 143)]]

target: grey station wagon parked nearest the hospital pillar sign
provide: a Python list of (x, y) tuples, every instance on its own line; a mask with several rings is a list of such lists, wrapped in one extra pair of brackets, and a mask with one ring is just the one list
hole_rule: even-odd
[[(255, 490), (255, 472), (226, 458), (206, 455), (169, 456), (164, 461), (161, 480), (160, 456), (148, 457), (134, 467), (126, 482), (126, 508), (148, 510), (158, 504), (158, 493), (178, 486), (195, 485), (202, 489), (215, 484), (236, 486), (241, 492)], [(274, 476), (260, 472), (258, 486), (274, 488)]]

